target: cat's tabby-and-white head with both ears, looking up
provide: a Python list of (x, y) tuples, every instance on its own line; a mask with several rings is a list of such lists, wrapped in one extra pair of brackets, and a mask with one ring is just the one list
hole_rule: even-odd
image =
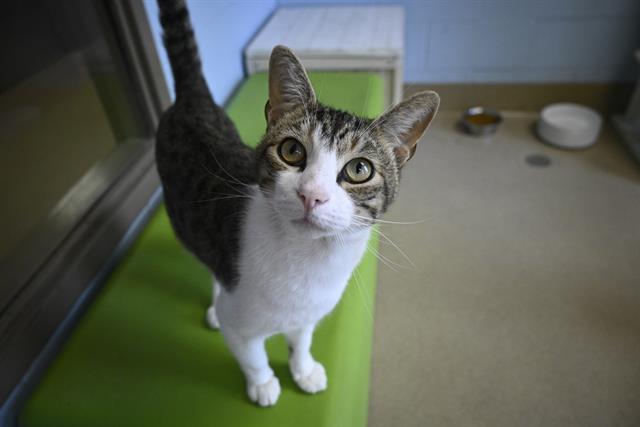
[(439, 102), (435, 92), (421, 92), (373, 120), (327, 107), (293, 52), (278, 46), (258, 147), (260, 189), (279, 219), (302, 234), (362, 230), (395, 199), (400, 170)]

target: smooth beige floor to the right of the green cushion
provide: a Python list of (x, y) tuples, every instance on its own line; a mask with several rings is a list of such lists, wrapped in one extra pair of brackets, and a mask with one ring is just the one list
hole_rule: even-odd
[[(369, 425), (640, 426), (640, 167), (441, 114), (385, 219)], [(525, 157), (548, 155), (533, 168)]]

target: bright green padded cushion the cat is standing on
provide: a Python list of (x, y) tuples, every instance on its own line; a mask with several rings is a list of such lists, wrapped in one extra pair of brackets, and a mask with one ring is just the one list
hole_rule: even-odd
[[(375, 75), (311, 79), (331, 105), (370, 116), (383, 109)], [(252, 76), (228, 107), (243, 139), (254, 144), (264, 130), (266, 87), (265, 75)], [(244, 378), (220, 333), (205, 327), (210, 275), (176, 241), (160, 208), (27, 401), (20, 425), (364, 426), (375, 281), (369, 252), (316, 331), (313, 353), (327, 368), (328, 390), (299, 391), (284, 340), (275, 337), (267, 348), (283, 390), (275, 407), (258, 408), (245, 397)]]

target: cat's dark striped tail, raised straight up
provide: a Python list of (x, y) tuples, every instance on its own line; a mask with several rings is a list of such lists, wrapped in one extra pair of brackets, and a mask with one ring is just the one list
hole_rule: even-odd
[(176, 96), (202, 82), (198, 45), (186, 0), (158, 0), (164, 46), (173, 71)]

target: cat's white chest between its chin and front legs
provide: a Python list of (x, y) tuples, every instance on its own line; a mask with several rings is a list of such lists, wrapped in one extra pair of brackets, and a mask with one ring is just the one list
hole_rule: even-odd
[(338, 303), (369, 233), (347, 241), (299, 239), (268, 220), (266, 201), (247, 212), (236, 289), (223, 292), (221, 322), (247, 335), (284, 332), (318, 322)]

